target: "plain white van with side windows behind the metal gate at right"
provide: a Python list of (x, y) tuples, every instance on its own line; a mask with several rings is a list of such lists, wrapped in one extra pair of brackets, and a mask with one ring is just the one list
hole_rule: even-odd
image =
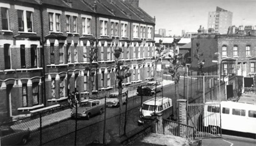
[(206, 102), (204, 108), (203, 124), (210, 127), (211, 132), (218, 132), (221, 124), (222, 129), (256, 134), (256, 105), (233, 101), (216, 103)]

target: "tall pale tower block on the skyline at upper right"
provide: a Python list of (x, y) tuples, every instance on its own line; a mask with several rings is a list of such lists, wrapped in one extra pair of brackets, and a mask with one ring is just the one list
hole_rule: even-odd
[(227, 34), (228, 27), (232, 25), (233, 13), (217, 7), (216, 11), (208, 13), (208, 28), (213, 28), (216, 33)]

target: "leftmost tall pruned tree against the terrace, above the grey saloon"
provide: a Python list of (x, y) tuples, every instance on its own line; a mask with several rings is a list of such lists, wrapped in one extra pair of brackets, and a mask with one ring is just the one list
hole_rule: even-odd
[[(93, 41), (90, 41), (90, 44), (91, 44), (91, 48), (90, 48), (90, 51), (89, 53), (87, 53), (87, 56), (85, 56), (85, 54), (83, 55), (84, 58), (88, 58), (89, 59), (89, 65), (87, 67), (85, 67), (85, 70), (88, 70), (89, 71), (89, 79), (88, 79), (88, 82), (89, 82), (89, 98), (92, 97), (92, 87), (93, 87), (93, 82), (92, 82), (92, 77), (93, 77), (93, 74), (92, 74), (92, 69), (93, 68), (96, 68), (98, 67), (98, 63), (97, 63), (97, 52), (98, 52), (98, 48), (97, 46), (93, 46), (94, 42)], [(96, 41), (96, 45), (97, 45), (97, 41)], [(93, 63), (95, 62), (95, 63)]]

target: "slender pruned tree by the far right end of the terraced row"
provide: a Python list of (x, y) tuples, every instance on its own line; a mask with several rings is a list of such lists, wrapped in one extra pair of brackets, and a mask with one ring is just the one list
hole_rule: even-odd
[(152, 59), (155, 60), (155, 68), (154, 68), (154, 81), (156, 81), (156, 70), (157, 70), (157, 63), (159, 60), (164, 59), (165, 58), (165, 53), (163, 53), (164, 51), (164, 47), (161, 46), (162, 44), (162, 40), (159, 40), (159, 48), (156, 48), (156, 53), (152, 54), (154, 55)]

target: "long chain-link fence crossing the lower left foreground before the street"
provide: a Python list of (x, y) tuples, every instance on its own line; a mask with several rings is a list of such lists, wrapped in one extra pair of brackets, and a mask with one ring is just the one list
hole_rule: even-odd
[[(15, 140), (20, 142), (21, 138), (27, 138), (26, 145), (33, 146), (108, 144), (138, 127), (141, 103), (153, 98), (130, 97), (128, 92), (123, 93), (122, 97), (123, 105), (118, 104), (119, 98), (110, 95), (101, 99), (87, 99), (79, 104), (55, 107), (51, 111), (48, 109), (0, 125), (0, 130), (3, 132), (11, 128), (13, 135), (16, 135)], [(113, 105), (117, 103), (116, 106), (110, 106), (111, 102)], [(30, 137), (26, 133), (28, 129)], [(1, 135), (1, 145), (12, 145), (4, 143), (12, 140), (10, 134)]]

